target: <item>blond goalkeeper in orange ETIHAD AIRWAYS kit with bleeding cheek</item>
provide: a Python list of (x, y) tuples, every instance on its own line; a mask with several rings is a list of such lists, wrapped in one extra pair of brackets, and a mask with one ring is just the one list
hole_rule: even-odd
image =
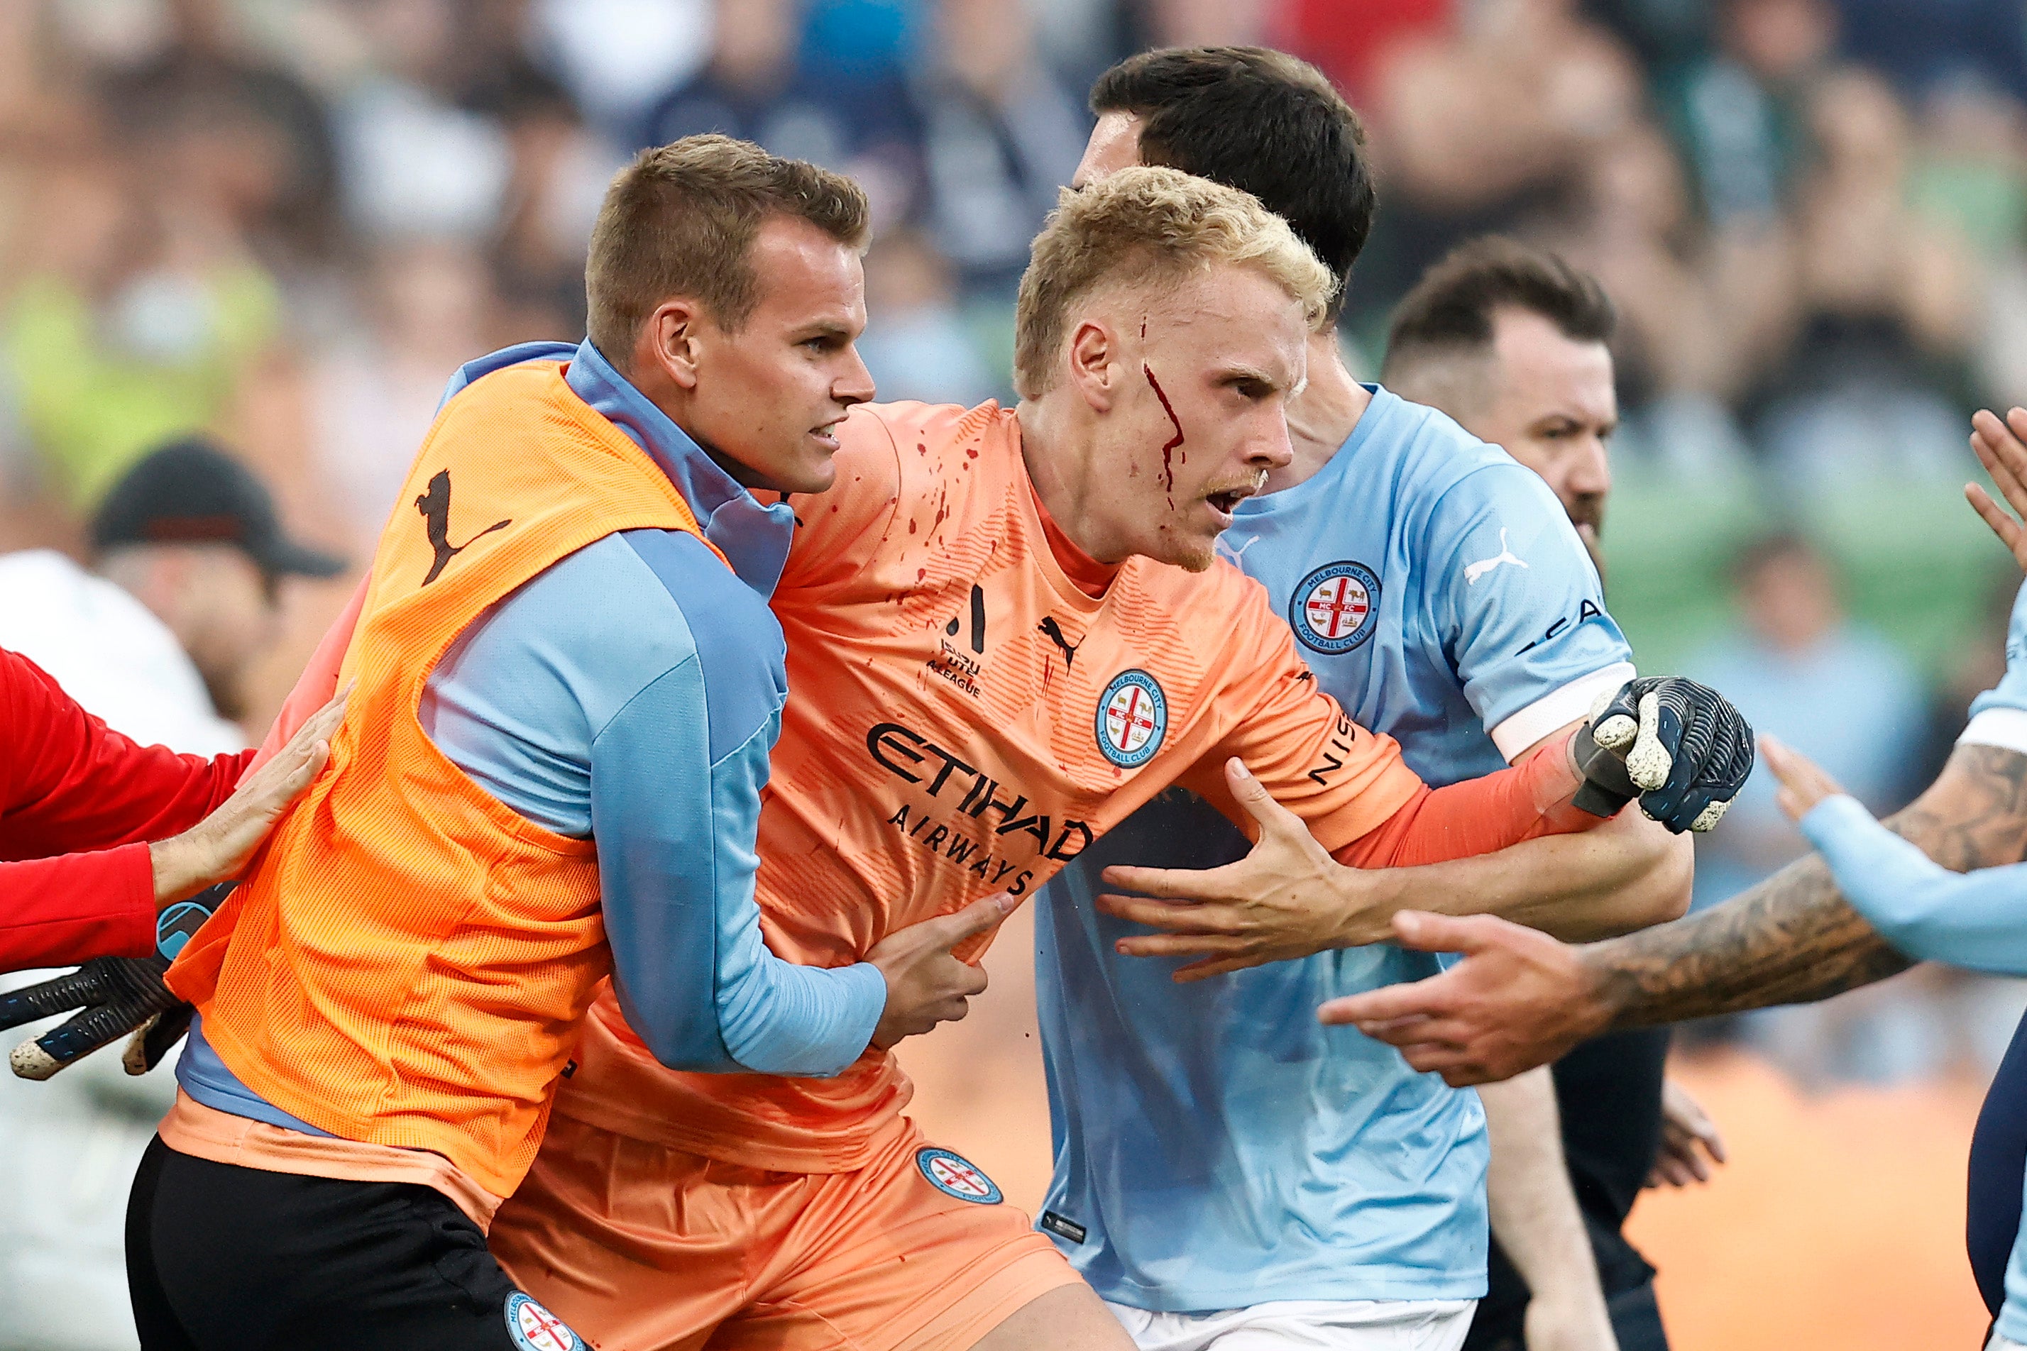
[[(1020, 407), (839, 423), (835, 484), (789, 498), (772, 600), (795, 689), (760, 814), (776, 952), (843, 964), (1032, 895), (1174, 784), (1259, 835), (1226, 871), (1259, 903), (1346, 863), (1597, 820), (1569, 804), (1567, 735), (1429, 790), (1214, 559), (1289, 462), (1283, 407), (1332, 288), (1249, 194), (1125, 170), (1064, 194), (1034, 243)], [(1423, 877), (1445, 885), (1403, 885)], [(1028, 1217), (902, 1116), (908, 1094), (884, 1051), (827, 1080), (671, 1071), (602, 999), (493, 1250), (608, 1349), (1129, 1347)]]

